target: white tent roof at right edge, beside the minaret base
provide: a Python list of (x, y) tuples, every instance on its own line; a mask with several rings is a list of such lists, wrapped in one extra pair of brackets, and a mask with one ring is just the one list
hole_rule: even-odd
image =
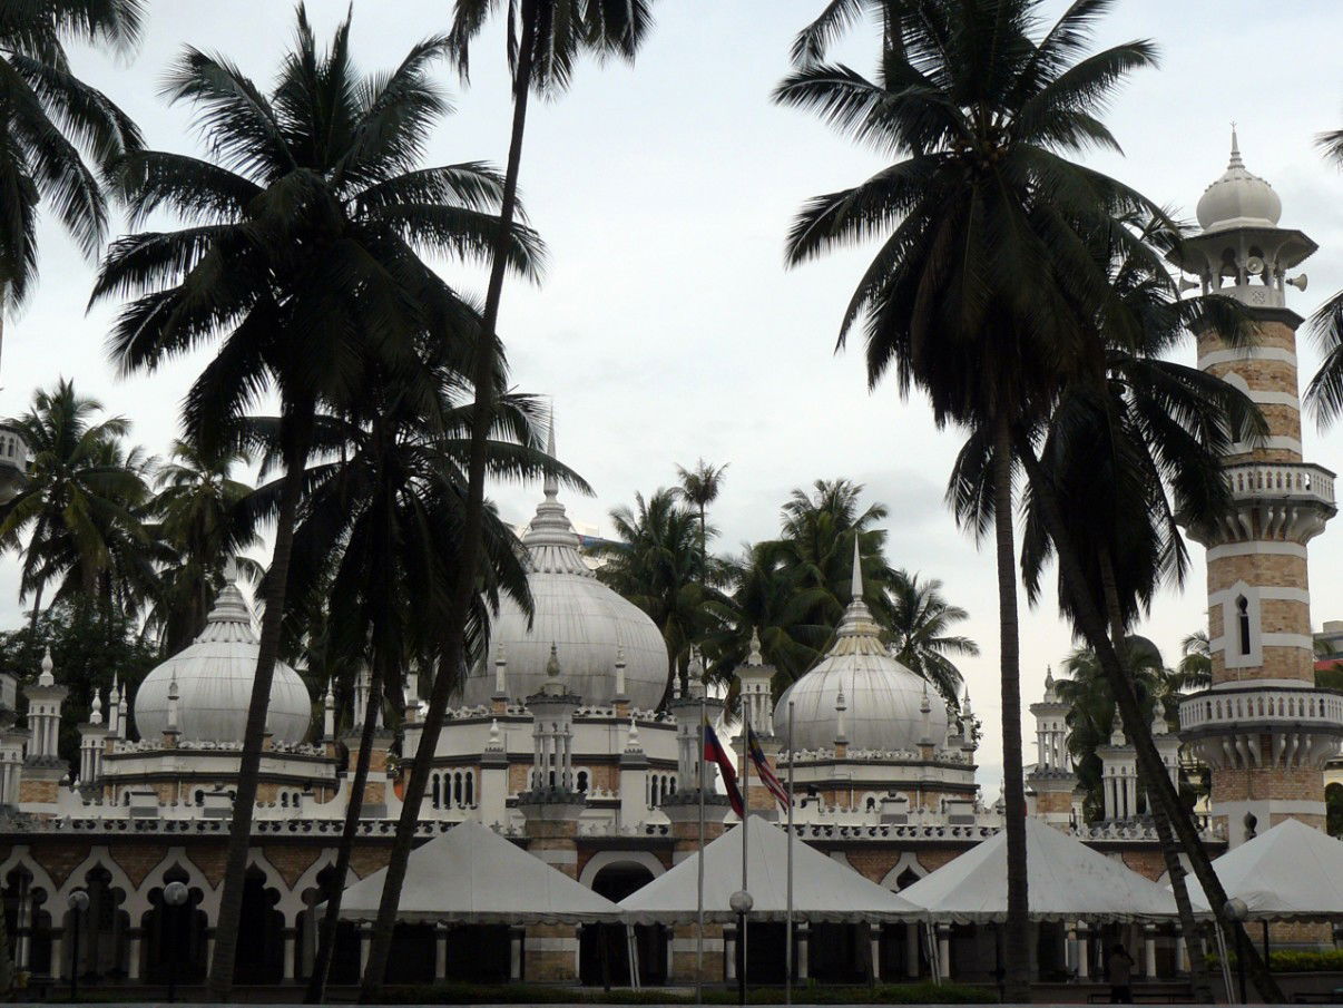
[[(1343, 843), (1295, 818), (1228, 851), (1213, 871), (1256, 921), (1343, 917)], [(1194, 909), (1211, 913), (1198, 879), (1187, 884)]]

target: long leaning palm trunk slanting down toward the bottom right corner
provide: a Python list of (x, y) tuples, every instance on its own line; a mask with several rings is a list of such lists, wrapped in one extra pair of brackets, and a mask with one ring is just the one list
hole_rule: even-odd
[(1156, 745), (1152, 742), (1151, 726), (1142, 716), (1142, 711), (1138, 707), (1138, 698), (1129, 687), (1119, 655), (1111, 646), (1105, 629), (1105, 618), (1096, 610), (1092, 597), (1086, 591), (1086, 577), (1082, 574), (1081, 560), (1072, 543), (1072, 536), (1068, 532), (1062, 509), (1049, 482), (1049, 476), (1045, 473), (1044, 466), (1041, 466), (1039, 460), (1035, 458), (1034, 448), (1025, 438), (1018, 438), (1017, 448), (1018, 457), (1026, 468), (1031, 491), (1035, 493), (1035, 499), (1039, 501), (1045, 516), (1045, 527), (1054, 542), (1054, 551), (1058, 556), (1058, 571), (1064, 579), (1064, 589), (1072, 599), (1077, 626), (1086, 638), (1086, 644), (1096, 652), (1096, 659), (1109, 679), (1115, 700), (1119, 703), (1120, 716), (1124, 722), (1124, 731), (1132, 741), (1138, 754), (1138, 771), (1148, 784), (1148, 797), (1155, 797), (1160, 802), (1162, 810), (1175, 831), (1180, 849), (1189, 856), (1194, 876), (1198, 879), (1199, 886), (1203, 887), (1203, 895), (1211, 906), (1218, 926), (1230, 937), (1240, 939), (1237, 948), (1245, 952), (1245, 962), (1249, 968), (1250, 980), (1258, 991), (1260, 997), (1266, 1004), (1281, 1004), (1285, 1000), (1283, 991), (1268, 972), (1264, 960), (1254, 948), (1254, 942), (1245, 934), (1245, 929), (1240, 921), (1226, 917), (1226, 890), (1222, 887), (1221, 879), (1217, 878), (1217, 872), (1213, 871), (1213, 863), (1187, 810), (1180, 805), (1175, 786), (1171, 784), (1170, 777), (1166, 775), (1160, 755), (1156, 753)]

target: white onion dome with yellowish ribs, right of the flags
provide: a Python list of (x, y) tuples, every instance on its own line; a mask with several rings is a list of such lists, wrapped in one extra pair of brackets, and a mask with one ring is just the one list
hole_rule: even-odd
[[(924, 722), (927, 683), (890, 656), (880, 634), (881, 628), (862, 601), (862, 569), (854, 542), (853, 601), (826, 656), (779, 698), (775, 735), (787, 737), (792, 703), (795, 750), (830, 749), (842, 735), (854, 750), (915, 751), (925, 724), (931, 738), (945, 738), (947, 712), (936, 704)], [(837, 707), (847, 707), (847, 712), (841, 715)]]

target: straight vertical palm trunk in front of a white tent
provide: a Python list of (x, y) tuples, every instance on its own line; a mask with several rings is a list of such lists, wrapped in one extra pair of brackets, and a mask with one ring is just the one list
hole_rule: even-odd
[(994, 534), (998, 547), (998, 636), (1003, 712), (1003, 802), (1007, 832), (1007, 974), (1005, 997), (1030, 1001), (1030, 900), (1026, 871), (1026, 778), (1021, 757), (1021, 641), (1013, 530), (1011, 427), (994, 422)]

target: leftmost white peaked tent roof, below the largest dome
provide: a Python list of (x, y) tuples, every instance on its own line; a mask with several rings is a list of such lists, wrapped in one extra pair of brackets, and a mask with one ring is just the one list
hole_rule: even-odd
[[(372, 921), (387, 870), (345, 890), (340, 915)], [(619, 907), (478, 823), (459, 823), (411, 852), (398, 919), (458, 923), (618, 921)]]

